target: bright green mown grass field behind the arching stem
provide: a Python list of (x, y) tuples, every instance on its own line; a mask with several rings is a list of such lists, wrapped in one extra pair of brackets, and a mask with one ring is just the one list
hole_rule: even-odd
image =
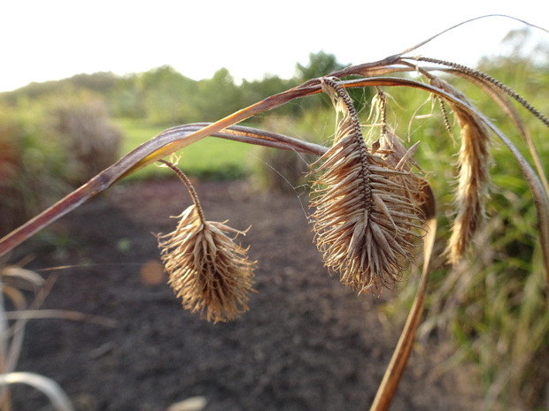
[[(128, 153), (155, 135), (163, 132), (167, 126), (151, 126), (140, 119), (116, 118), (116, 126), (124, 133), (121, 152)], [(249, 144), (224, 139), (206, 137), (183, 149), (179, 167), (189, 176), (199, 179), (229, 180), (247, 176), (251, 170), (251, 151)], [(137, 171), (128, 179), (156, 178), (172, 173), (166, 168), (154, 164)]]

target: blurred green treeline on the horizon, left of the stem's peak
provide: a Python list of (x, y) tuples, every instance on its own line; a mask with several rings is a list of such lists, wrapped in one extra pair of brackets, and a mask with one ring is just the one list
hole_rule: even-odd
[[(192, 80), (169, 65), (126, 76), (112, 72), (78, 74), (65, 80), (31, 83), (13, 92), (0, 93), (0, 107), (21, 107), (44, 99), (51, 104), (51, 96), (64, 99), (67, 95), (80, 95), (84, 99), (101, 99), (112, 118), (139, 118), (153, 125), (173, 126), (215, 121), (269, 95), (342, 67), (336, 57), (321, 51), (309, 56), (308, 65), (297, 64), (296, 74), (289, 80), (265, 75), (261, 80), (242, 80), (236, 84), (225, 68), (215, 72), (211, 79)], [(284, 110), (297, 114), (303, 107), (289, 104)]]

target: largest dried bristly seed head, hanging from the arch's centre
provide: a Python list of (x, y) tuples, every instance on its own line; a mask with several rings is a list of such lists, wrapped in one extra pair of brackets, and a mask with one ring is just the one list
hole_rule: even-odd
[(333, 146), (312, 165), (316, 244), (344, 284), (379, 293), (414, 257), (424, 220), (417, 202), (422, 179), (406, 170), (406, 153), (394, 149), (394, 139), (368, 150), (347, 92), (329, 78), (321, 85), (343, 118)]

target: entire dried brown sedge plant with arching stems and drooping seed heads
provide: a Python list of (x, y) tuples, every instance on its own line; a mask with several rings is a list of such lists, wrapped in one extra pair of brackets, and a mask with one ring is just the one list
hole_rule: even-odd
[[(452, 28), (454, 27), (448, 30)], [(0, 239), (0, 256), (120, 179), (210, 135), (321, 156), (319, 161), (312, 165), (311, 171), (316, 177), (312, 192), (312, 206), (316, 208), (313, 213), (313, 230), (326, 265), (330, 270), (338, 271), (345, 284), (352, 285), (360, 292), (371, 289), (381, 291), (383, 285), (392, 285), (412, 261), (415, 244), (425, 233), (425, 264), (421, 274), (421, 285), (372, 406), (376, 411), (387, 409), (398, 385), (398, 379), (406, 367), (406, 359), (414, 342), (414, 331), (421, 319), (436, 219), (434, 196), (430, 193), (429, 185), (412, 171), (414, 162), (411, 156), (414, 147), (406, 150), (385, 124), (386, 101), (380, 88), (408, 87), (437, 96), (447, 129), (450, 129), (450, 126), (444, 103), (450, 104), (457, 115), (461, 126), (462, 147), (458, 164), (460, 183), (456, 201), (459, 209), (449, 246), (452, 263), (457, 262), (466, 250), (483, 215), (483, 196), (488, 186), (487, 130), (506, 145), (520, 165), (536, 205), (545, 272), (545, 294), (549, 296), (549, 183), (536, 145), (513, 103), (508, 99), (521, 103), (545, 126), (549, 126), (549, 120), (520, 95), (482, 72), (433, 58), (405, 56), (440, 34), (383, 60), (352, 65), (329, 74), (329, 78), (307, 80), (296, 88), (271, 95), (215, 123), (175, 126), (160, 133), (97, 174), (87, 184), (29, 220), (27, 224), (21, 225)], [(445, 67), (443, 71), (465, 78), (486, 92), (512, 120), (527, 142), (536, 170), (489, 118), (468, 103), (463, 95), (446, 85), (444, 81), (437, 81), (430, 74), (439, 68), (421, 67), (418, 65), (421, 62), (442, 65)], [(391, 73), (410, 71), (420, 72), (426, 79), (431, 80), (431, 84), (410, 78), (387, 76)], [(339, 83), (332, 80), (351, 75), (360, 78)], [(382, 132), (380, 140), (372, 144), (372, 148), (367, 148), (352, 101), (341, 86), (378, 88), (376, 110), (377, 120), (381, 124), (377, 126), (381, 126)], [(321, 88), (331, 96), (336, 109), (343, 113), (331, 148), (251, 127), (236, 126), (246, 118), (273, 110), (297, 98), (313, 95)], [(186, 181), (182, 173), (178, 173), (183, 181)], [(228, 233), (238, 235), (244, 232), (221, 223), (205, 221), (196, 194), (189, 184), (188, 186), (195, 205), (182, 213), (175, 232), (157, 236), (159, 247), (162, 249), (162, 259), (170, 274), (170, 283), (175, 292), (182, 296), (185, 308), (199, 311), (201, 315), (206, 311), (205, 316), (208, 320), (226, 321), (247, 309), (255, 263), (248, 261), (246, 250), (236, 246), (234, 239), (228, 237)], [(423, 232), (424, 224), (432, 229)], [(549, 304), (549, 297), (547, 303)]]

